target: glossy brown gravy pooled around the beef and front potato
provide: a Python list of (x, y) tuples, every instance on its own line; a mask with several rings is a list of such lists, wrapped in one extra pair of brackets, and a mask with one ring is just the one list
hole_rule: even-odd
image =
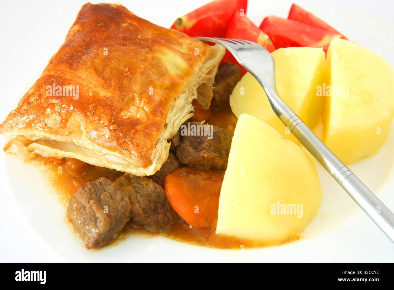
[[(233, 133), (236, 120), (237, 119), (234, 114), (232, 114), (231, 110), (226, 109), (214, 111), (212, 118), (210, 118), (211, 122), (208, 123), (220, 126)], [(97, 180), (102, 176), (114, 181), (123, 174), (123, 172), (119, 172), (110, 168), (97, 167), (74, 158), (57, 159), (54, 157), (39, 156), (37, 157), (37, 160), (45, 166), (48, 180), (58, 193), (61, 202), (65, 206), (68, 206), (71, 196), (74, 195), (76, 189), (81, 185), (89, 181)], [(221, 173), (223, 173), (221, 174), (223, 177), (224, 170)], [(121, 235), (119, 235), (119, 238), (128, 234), (156, 236), (156, 234), (146, 232), (143, 227), (141, 227), (141, 225), (133, 223), (133, 221), (130, 221), (125, 226)], [(214, 231), (196, 231), (190, 228), (187, 224), (182, 224), (181, 222), (175, 223), (169, 232), (162, 235), (176, 241), (182, 241), (184, 243), (219, 249), (246, 249), (274, 245), (265, 241), (251, 241), (221, 236), (216, 234)], [(287, 241), (276, 243), (275, 245), (295, 241), (299, 238), (299, 236), (296, 236), (294, 238), (288, 239)]]

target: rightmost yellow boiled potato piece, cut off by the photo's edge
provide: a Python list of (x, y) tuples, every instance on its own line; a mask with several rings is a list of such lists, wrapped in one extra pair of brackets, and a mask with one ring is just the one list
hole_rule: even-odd
[(333, 39), (327, 52), (323, 142), (343, 163), (377, 152), (394, 116), (394, 69), (360, 45)]

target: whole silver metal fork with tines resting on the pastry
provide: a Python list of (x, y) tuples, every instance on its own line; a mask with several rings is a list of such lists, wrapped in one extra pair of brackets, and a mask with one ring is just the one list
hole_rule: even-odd
[(353, 198), (365, 213), (394, 242), (394, 215), (364, 183), (335, 156), (331, 150), (279, 97), (275, 85), (275, 62), (261, 45), (241, 39), (195, 37), (217, 43), (227, 49), (260, 83), (275, 114)]

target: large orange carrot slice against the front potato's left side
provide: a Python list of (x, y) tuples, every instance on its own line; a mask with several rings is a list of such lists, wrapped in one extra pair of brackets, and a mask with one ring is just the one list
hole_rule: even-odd
[(222, 181), (210, 170), (181, 167), (165, 177), (165, 195), (186, 223), (194, 228), (214, 229)]

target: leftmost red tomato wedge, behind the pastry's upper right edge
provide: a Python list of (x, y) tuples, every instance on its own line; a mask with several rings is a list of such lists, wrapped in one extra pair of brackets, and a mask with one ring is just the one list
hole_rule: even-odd
[(215, 0), (179, 17), (171, 28), (191, 37), (224, 37), (234, 11), (246, 8), (247, 0)]

